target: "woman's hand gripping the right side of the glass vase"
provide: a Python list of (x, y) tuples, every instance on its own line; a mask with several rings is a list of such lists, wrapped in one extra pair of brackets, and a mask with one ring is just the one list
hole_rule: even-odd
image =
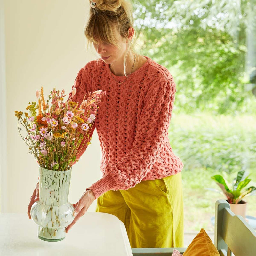
[[(75, 216), (75, 219), (66, 227), (66, 233), (68, 233), (68, 230), (76, 223), (77, 220), (80, 219), (84, 215), (85, 212), (87, 212), (88, 208), (92, 204), (92, 202), (95, 200), (94, 193), (92, 190), (87, 190), (84, 192), (84, 194), (81, 196), (79, 201), (76, 204), (73, 204), (75, 207), (75, 210), (73, 212), (73, 215)], [(77, 215), (76, 215), (77, 213)]]

